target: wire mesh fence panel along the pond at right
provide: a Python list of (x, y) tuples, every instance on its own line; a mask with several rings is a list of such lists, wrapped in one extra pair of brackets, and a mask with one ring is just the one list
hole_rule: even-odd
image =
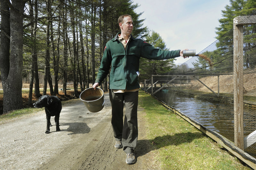
[(172, 71), (153, 75), (143, 90), (256, 158), (256, 18), (236, 19), (242, 40), (237, 30), (228, 31)]

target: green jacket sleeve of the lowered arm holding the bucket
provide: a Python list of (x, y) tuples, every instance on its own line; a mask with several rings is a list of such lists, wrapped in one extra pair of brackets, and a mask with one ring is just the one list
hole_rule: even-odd
[(106, 44), (95, 83), (101, 84), (103, 79), (107, 77), (112, 61), (112, 57), (110, 54), (110, 48), (108, 48), (108, 44)]

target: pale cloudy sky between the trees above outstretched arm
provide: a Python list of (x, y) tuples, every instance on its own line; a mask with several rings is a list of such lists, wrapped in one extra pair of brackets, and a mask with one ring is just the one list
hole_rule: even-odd
[[(143, 26), (159, 33), (167, 48), (195, 49), (196, 54), (217, 39), (215, 27), (219, 27), (221, 10), (230, 5), (229, 0), (133, 0), (140, 6), (136, 13), (143, 12)], [(135, 27), (135, 26), (134, 26)], [(188, 59), (177, 57), (176, 65)]]

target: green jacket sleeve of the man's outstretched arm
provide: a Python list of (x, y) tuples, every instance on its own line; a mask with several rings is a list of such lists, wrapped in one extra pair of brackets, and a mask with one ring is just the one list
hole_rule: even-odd
[(142, 41), (141, 45), (141, 57), (147, 58), (150, 60), (165, 60), (170, 58), (175, 58), (180, 56), (180, 50), (161, 50), (153, 47), (147, 42)]

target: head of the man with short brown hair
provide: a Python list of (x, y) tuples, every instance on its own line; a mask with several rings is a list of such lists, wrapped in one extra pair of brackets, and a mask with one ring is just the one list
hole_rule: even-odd
[(121, 29), (121, 33), (129, 34), (129, 35), (132, 33), (133, 21), (132, 21), (131, 15), (128, 15), (128, 14), (121, 15), (118, 18), (118, 24)]

